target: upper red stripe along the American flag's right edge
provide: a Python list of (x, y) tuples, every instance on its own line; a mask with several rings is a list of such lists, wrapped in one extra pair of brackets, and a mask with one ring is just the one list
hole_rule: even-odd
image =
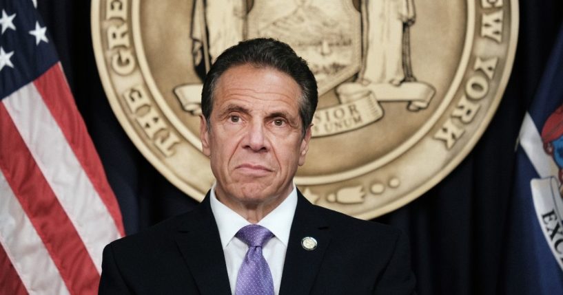
[(74, 98), (66, 83), (60, 64), (57, 63), (48, 69), (35, 80), (34, 85), (43, 97), (43, 101), (54, 120), (59, 124), (59, 128), (63, 131), (68, 144), (74, 151), (74, 155), (88, 175), (103, 204), (108, 208), (119, 233), (121, 236), (125, 235), (119, 204), (117, 204), (117, 199), (105, 177), (101, 160), (96, 153), (90, 135), (88, 135), (86, 125), (78, 109), (76, 109)]

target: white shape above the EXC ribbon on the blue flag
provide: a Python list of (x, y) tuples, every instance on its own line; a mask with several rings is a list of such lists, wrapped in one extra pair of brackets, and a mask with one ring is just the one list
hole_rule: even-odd
[[(549, 156), (544, 151), (540, 132), (538, 131), (538, 128), (535, 127), (535, 124), (528, 112), (526, 112), (526, 115), (524, 116), (522, 129), (520, 129), (520, 145), (526, 152), (526, 155), (528, 155), (530, 162), (535, 168), (535, 171), (540, 175), (540, 178), (557, 175), (559, 168), (557, 168), (555, 161), (553, 161), (553, 157)], [(559, 182), (559, 180), (557, 180), (557, 182)]]

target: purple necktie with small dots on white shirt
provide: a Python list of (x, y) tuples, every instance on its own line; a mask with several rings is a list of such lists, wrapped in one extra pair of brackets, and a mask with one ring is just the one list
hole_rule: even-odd
[(263, 226), (251, 224), (240, 228), (235, 237), (248, 245), (243, 264), (238, 270), (235, 295), (274, 295), (274, 282), (268, 263), (262, 254), (262, 246), (274, 237)]

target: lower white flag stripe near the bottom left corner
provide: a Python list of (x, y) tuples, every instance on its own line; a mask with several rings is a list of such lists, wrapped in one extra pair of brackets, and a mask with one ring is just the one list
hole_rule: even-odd
[[(30, 219), (0, 171), (0, 244), (30, 294), (70, 294)], [(6, 292), (6, 290), (3, 290)]]

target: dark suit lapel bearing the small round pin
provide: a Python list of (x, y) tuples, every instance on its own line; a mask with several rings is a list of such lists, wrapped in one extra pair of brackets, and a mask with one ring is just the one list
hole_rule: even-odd
[[(301, 245), (304, 237), (316, 239), (316, 249), (305, 250)], [(329, 243), (330, 233), (327, 223), (318, 214), (318, 209), (298, 191), (297, 208), (291, 224), (283, 265), (280, 294), (309, 294)]]

